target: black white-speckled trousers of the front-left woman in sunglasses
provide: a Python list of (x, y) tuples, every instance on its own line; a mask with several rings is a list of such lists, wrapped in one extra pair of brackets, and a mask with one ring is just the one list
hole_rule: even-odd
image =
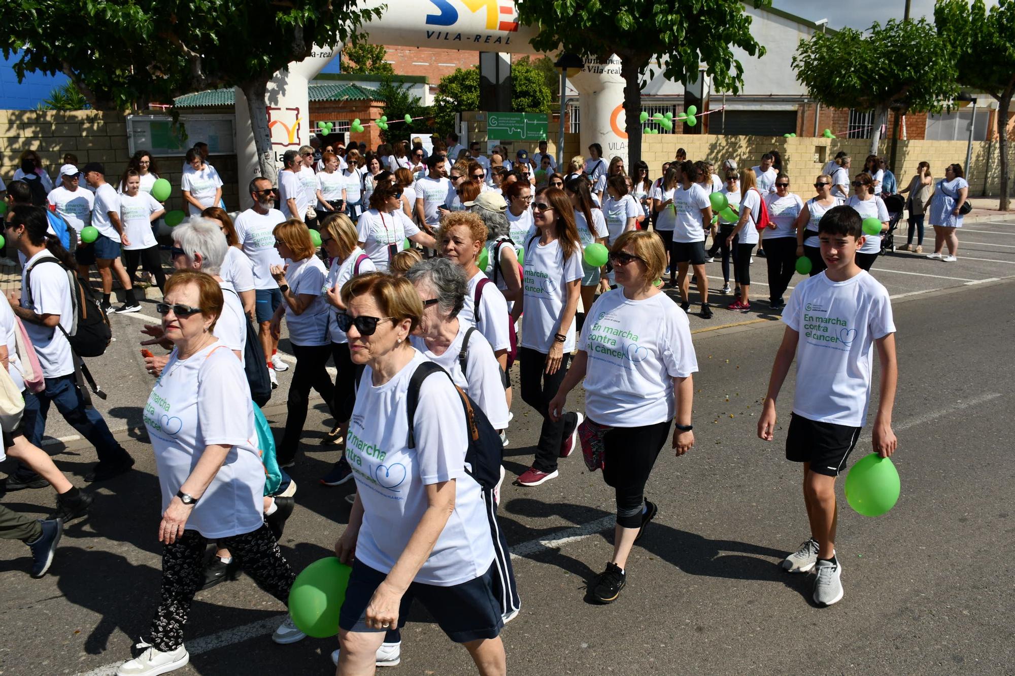
[[(242, 535), (218, 538), (227, 547), (240, 567), (257, 586), (288, 605), (289, 588), (296, 579), (282, 550), (267, 525)], [(162, 547), (162, 593), (155, 617), (151, 620), (148, 643), (155, 650), (168, 653), (184, 645), (184, 625), (190, 614), (194, 594), (204, 585), (204, 550), (207, 540), (197, 531), (184, 531), (182, 537)]]

